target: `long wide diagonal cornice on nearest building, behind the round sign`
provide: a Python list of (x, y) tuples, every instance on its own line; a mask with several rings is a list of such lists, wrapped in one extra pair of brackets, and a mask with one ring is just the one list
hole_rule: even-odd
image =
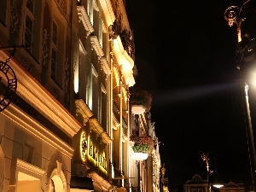
[[(6, 58), (9, 58), (9, 55), (7, 55), (7, 52), (2, 51), (0, 60), (5, 61)], [(13, 68), (17, 76), (16, 94), (25, 99), (38, 112), (44, 114), (51, 122), (54, 122), (61, 131), (66, 132), (69, 137), (73, 137), (81, 127), (78, 120), (44, 86), (39, 84), (30, 73), (26, 72), (15, 58), (9, 61), (9, 66)]]

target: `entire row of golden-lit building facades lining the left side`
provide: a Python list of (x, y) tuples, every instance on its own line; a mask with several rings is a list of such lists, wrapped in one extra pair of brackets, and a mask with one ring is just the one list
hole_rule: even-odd
[(154, 150), (131, 158), (125, 1), (7, 0), (0, 10), (0, 192), (159, 191), (150, 113), (140, 131)]

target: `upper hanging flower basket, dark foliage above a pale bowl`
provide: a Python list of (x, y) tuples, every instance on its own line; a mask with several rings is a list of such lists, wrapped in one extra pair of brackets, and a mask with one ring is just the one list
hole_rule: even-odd
[(152, 97), (146, 90), (133, 88), (130, 90), (131, 113), (141, 114), (151, 108)]

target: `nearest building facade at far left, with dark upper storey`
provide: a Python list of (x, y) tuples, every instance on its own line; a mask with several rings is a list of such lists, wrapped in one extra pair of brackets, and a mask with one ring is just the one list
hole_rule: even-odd
[(72, 139), (81, 127), (69, 112), (72, 3), (0, 2), (1, 192), (70, 190)]

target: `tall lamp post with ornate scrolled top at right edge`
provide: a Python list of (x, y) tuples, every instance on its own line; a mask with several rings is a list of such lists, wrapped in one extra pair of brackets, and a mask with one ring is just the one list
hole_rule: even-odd
[[(234, 24), (236, 24), (238, 43), (241, 42), (241, 22), (243, 20), (246, 20), (243, 9), (245, 5), (250, 1), (251, 0), (247, 0), (245, 3), (241, 5), (241, 7), (230, 6), (224, 11), (224, 19), (228, 21), (229, 26), (233, 26)], [(242, 67), (242, 69), (244, 69), (244, 67)], [(242, 93), (243, 93), (242, 95), (243, 95), (243, 102), (244, 102), (244, 108), (245, 108), (247, 144), (248, 144), (249, 159), (251, 164), (253, 190), (255, 190), (256, 189), (256, 175), (255, 175), (256, 157), (255, 157), (255, 146), (253, 141), (253, 126), (252, 126), (251, 113), (250, 113), (250, 107), (249, 107), (247, 78), (245, 77), (245, 72), (243, 70), (241, 70), (241, 72), (243, 74), (241, 87), (242, 87)]]

